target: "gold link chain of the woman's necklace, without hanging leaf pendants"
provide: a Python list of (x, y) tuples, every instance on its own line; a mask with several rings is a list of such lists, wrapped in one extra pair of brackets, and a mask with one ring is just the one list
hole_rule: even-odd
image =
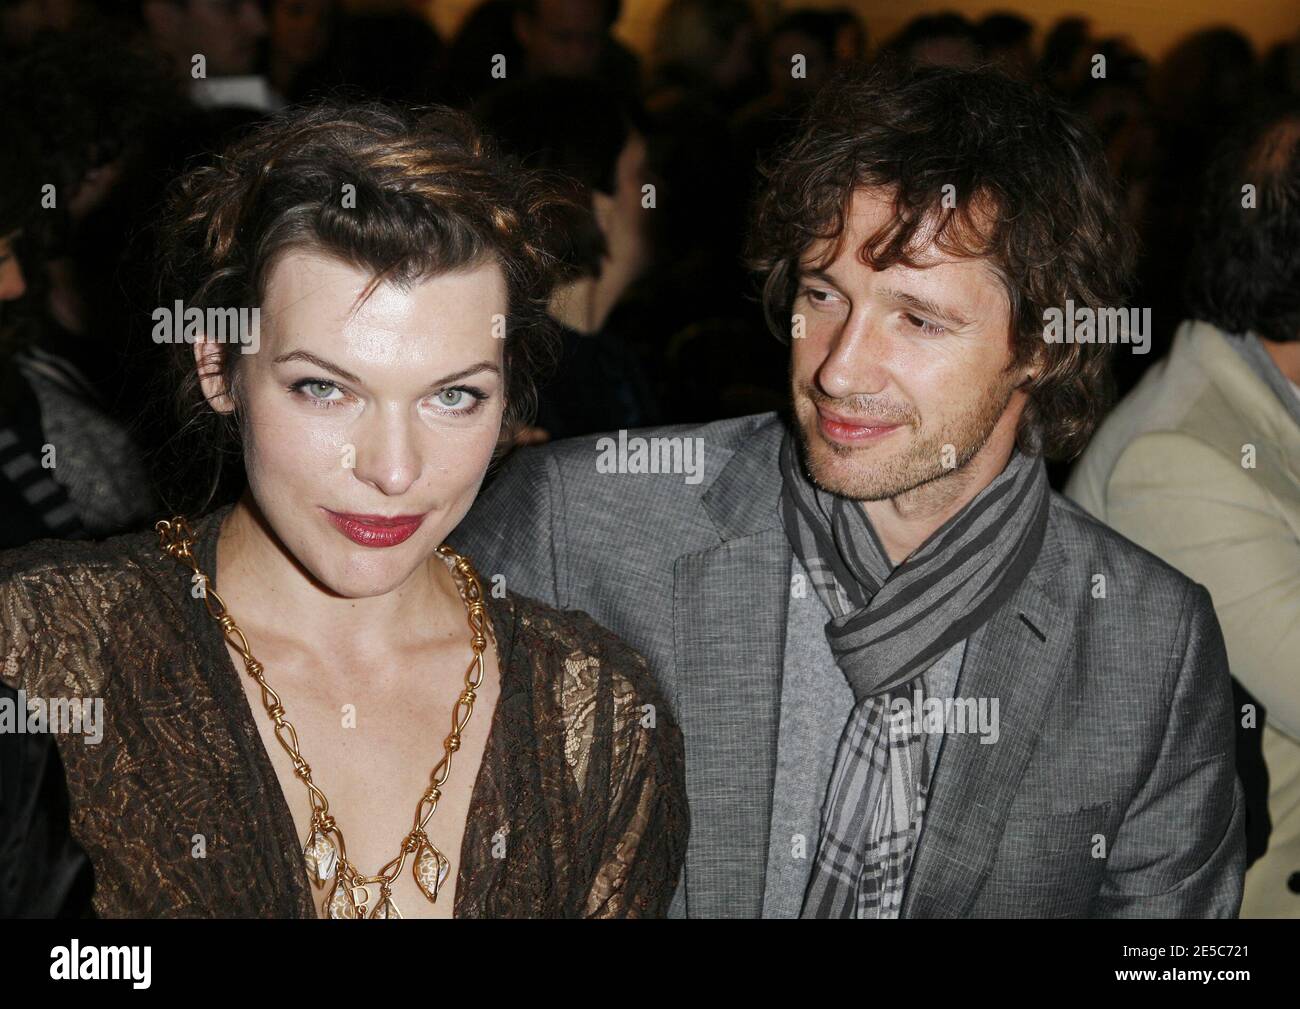
[[(442, 742), (442, 759), (434, 765), (433, 771), (429, 774), (429, 788), (420, 797), (416, 804), (415, 810), (415, 826), (411, 832), (402, 840), (402, 845), (398, 849), (396, 857), (394, 857), (387, 865), (384, 866), (373, 876), (363, 876), (356, 867), (348, 861), (347, 845), (343, 840), (343, 831), (339, 828), (334, 817), (329, 811), (329, 800), (325, 793), (316, 785), (312, 780), (312, 768), (303, 759), (302, 752), (298, 746), (298, 732), (294, 729), (292, 723), (285, 718), (285, 706), (281, 703), (280, 694), (277, 694), (264, 675), (264, 667), (254, 657), (252, 650), (248, 648), (248, 641), (243, 636), (243, 631), (235, 624), (234, 618), (226, 612), (226, 605), (217, 594), (216, 589), (211, 588), (208, 576), (199, 570), (199, 563), (191, 549), (196, 542), (194, 531), (190, 524), (185, 520), (185, 516), (177, 515), (170, 520), (161, 520), (153, 527), (159, 534), (159, 545), (162, 551), (182, 564), (188, 567), (195, 575), (195, 583), (202, 586), (202, 597), (207, 606), (208, 614), (213, 620), (220, 624), (226, 640), (238, 649), (240, 657), (243, 658), (244, 668), (254, 680), (257, 681), (257, 687), (261, 689), (261, 702), (266, 709), (266, 714), (276, 724), (276, 739), (280, 740), (280, 745), (285, 748), (289, 753), (290, 759), (294, 765), (294, 774), (307, 785), (308, 797), (312, 804), (312, 832), (316, 832), (328, 837), (333, 835), (338, 844), (338, 887), (346, 889), (346, 900), (350, 905), (352, 914), (350, 917), (364, 918), (365, 917), (365, 904), (369, 898), (368, 887), (372, 884), (380, 885), (380, 900), (376, 913), (390, 901), (391, 884), (393, 880), (398, 878), (402, 872), (402, 867), (406, 865), (408, 854), (415, 854), (421, 846), (432, 848), (429, 836), (425, 833), (425, 826), (433, 817), (434, 810), (438, 807), (438, 800), (442, 797), (442, 785), (446, 784), (447, 776), (451, 774), (451, 754), (460, 749), (462, 735), (465, 731), (465, 726), (469, 723), (469, 716), (474, 710), (474, 700), (478, 696), (478, 688), (482, 685), (484, 680), (484, 651), (488, 648), (488, 635), (491, 633), (491, 627), (488, 623), (488, 612), (484, 605), (482, 588), (478, 583), (478, 576), (473, 570), (469, 560), (450, 546), (443, 544), (438, 547), (438, 555), (446, 558), (451, 562), (451, 566), (458, 575), (456, 588), (460, 592), (460, 598), (465, 605), (467, 619), (469, 622), (469, 646), (473, 650), (473, 658), (469, 662), (469, 667), (465, 670), (465, 687), (456, 698), (456, 703), (451, 709), (451, 733)], [(433, 849), (434, 852), (437, 849)], [(441, 853), (438, 853), (441, 858)], [(419, 879), (419, 875), (417, 875)], [(360, 900), (356, 897), (356, 891), (361, 889), (365, 895)], [(430, 902), (437, 900), (437, 888), (430, 893), (429, 889), (421, 883), (421, 892), (429, 898)], [(326, 898), (326, 905), (333, 901), (334, 891), (330, 892), (330, 897)], [(389, 906), (391, 906), (389, 904)], [(394, 909), (395, 910), (395, 909)]]

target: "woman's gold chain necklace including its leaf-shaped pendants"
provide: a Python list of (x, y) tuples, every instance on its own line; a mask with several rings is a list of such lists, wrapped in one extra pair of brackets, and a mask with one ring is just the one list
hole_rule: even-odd
[[(162, 551), (186, 564), (194, 572), (194, 584), (199, 586), (198, 596), (203, 598), (208, 614), (221, 625), (230, 644), (239, 649), (239, 654), (244, 661), (244, 668), (261, 688), (261, 702), (266, 707), (266, 714), (276, 723), (276, 739), (289, 752), (289, 757), (294, 762), (294, 774), (307, 785), (312, 802), (312, 826), (307, 844), (303, 848), (303, 857), (307, 859), (307, 871), (316, 887), (324, 887), (330, 879), (334, 880), (321, 909), (330, 918), (400, 918), (398, 906), (393, 902), (391, 887), (393, 880), (400, 875), (408, 854), (415, 856), (412, 875), (420, 887), (420, 892), (429, 898), (430, 904), (436, 902), (438, 900), (438, 891), (447, 879), (451, 863), (438, 850), (437, 845), (429, 840), (429, 835), (425, 833), (424, 828), (438, 807), (438, 800), (442, 797), (442, 785), (446, 783), (447, 775), (451, 774), (451, 754), (460, 749), (460, 735), (464, 732), (469, 716), (473, 714), (474, 698), (484, 680), (484, 651), (488, 648), (485, 632), (490, 633), (491, 629), (484, 607), (478, 576), (474, 573), (469, 560), (447, 545), (438, 547), (439, 558), (443, 559), (443, 563), (448, 563), (459, 576), (456, 588), (460, 590), (460, 598), (465, 603), (471, 631), (469, 645), (474, 653), (474, 657), (469, 661), (469, 668), (465, 670), (465, 689), (460, 692), (460, 697), (456, 698), (455, 707), (451, 710), (451, 735), (442, 742), (442, 759), (438, 761), (429, 775), (429, 788), (416, 804), (415, 827), (403, 839), (398, 856), (376, 875), (363, 876), (348, 861), (347, 845), (343, 843), (343, 831), (339, 830), (338, 823), (329, 813), (329, 800), (325, 798), (325, 793), (312, 781), (312, 768), (303, 759), (298, 749), (298, 733), (285, 718), (285, 706), (280, 702), (280, 694), (266, 683), (266, 677), (263, 675), (263, 666), (254, 658), (252, 651), (248, 650), (248, 641), (244, 638), (243, 632), (238, 628), (230, 614), (226, 612), (226, 605), (221, 601), (221, 597), (214, 589), (208, 586), (208, 576), (199, 570), (199, 562), (191, 550), (196, 542), (194, 531), (182, 515), (174, 516), (170, 521), (164, 519), (156, 523), (153, 528), (157, 531), (159, 545)], [(330, 840), (330, 835), (337, 839), (337, 844)], [(374, 910), (367, 914), (365, 905), (370, 898), (369, 887), (376, 883), (380, 885), (378, 901), (374, 905)], [(360, 896), (358, 896), (358, 891), (360, 891)]]

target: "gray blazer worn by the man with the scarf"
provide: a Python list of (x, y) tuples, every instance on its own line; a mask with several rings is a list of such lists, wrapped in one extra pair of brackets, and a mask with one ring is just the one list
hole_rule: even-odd
[[(701, 439), (702, 478), (601, 472), (601, 436), (525, 449), (450, 537), (485, 584), (585, 610), (649, 659), (686, 748), (675, 914), (763, 906), (783, 432), (772, 413), (630, 432)], [(945, 740), (902, 917), (1236, 915), (1243, 794), (1205, 589), (1053, 494), (1037, 563), (968, 640), (958, 692), (998, 698), (1000, 737)]]

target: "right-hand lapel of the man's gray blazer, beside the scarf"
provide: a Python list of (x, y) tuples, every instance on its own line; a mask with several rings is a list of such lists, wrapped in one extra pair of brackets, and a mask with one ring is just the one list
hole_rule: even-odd
[(1070, 622), (1053, 592), (1065, 558), (1052, 525), (1030, 576), (966, 648), (961, 697), (997, 698), (998, 739), (979, 733), (944, 740), (900, 910), (904, 918), (968, 914), (992, 870), (1030, 755), (1043, 731), (1070, 644)]

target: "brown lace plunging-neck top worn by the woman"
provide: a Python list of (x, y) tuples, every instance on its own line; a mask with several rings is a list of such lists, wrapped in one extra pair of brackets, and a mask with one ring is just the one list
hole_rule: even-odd
[[(229, 508), (191, 521), (209, 573)], [(686, 849), (685, 772), (645, 661), (584, 612), (507, 593), (488, 614), (500, 698), (455, 917), (663, 915)], [(96, 914), (316, 917), (240, 675), (153, 532), (0, 553), (0, 677), (29, 700), (103, 698), (100, 742), (56, 736)], [(430, 754), (439, 742), (430, 728)], [(493, 858), (502, 828), (510, 857)]]

